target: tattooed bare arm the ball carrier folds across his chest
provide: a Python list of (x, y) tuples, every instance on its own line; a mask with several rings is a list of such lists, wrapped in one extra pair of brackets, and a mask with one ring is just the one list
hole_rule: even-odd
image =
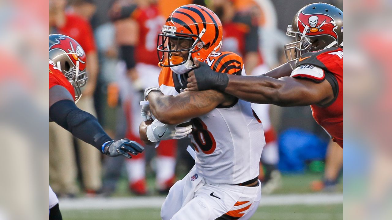
[(152, 91), (148, 95), (152, 114), (162, 123), (180, 124), (207, 114), (225, 101), (225, 95), (215, 90), (181, 92), (177, 96), (165, 96)]

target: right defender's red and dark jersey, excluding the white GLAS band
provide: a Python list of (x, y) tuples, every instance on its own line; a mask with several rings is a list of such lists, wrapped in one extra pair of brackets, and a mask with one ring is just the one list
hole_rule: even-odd
[[(303, 54), (296, 67), (301, 65), (314, 65), (320, 67), (325, 72), (332, 73), (336, 79), (337, 95), (328, 106), (310, 105), (313, 118), (321, 125), (343, 148), (343, 48), (334, 47), (316, 52)], [(302, 78), (307, 76), (301, 75)], [(325, 76), (323, 76), (324, 79)], [(315, 80), (312, 77), (310, 79)], [(318, 79), (319, 81), (319, 79)]]

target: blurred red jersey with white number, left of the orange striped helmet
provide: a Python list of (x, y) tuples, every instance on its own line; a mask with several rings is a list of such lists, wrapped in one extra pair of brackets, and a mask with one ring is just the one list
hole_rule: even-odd
[(156, 41), (162, 31), (165, 19), (160, 16), (155, 4), (138, 7), (131, 15), (139, 25), (139, 42), (135, 50), (136, 62), (158, 65)]

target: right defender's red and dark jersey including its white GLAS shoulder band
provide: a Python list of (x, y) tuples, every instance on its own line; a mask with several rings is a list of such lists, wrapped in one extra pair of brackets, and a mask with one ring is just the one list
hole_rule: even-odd
[(307, 78), (316, 82), (327, 79), (331, 84), (334, 99), (325, 106), (310, 107), (316, 122), (343, 148), (343, 48), (333, 47), (303, 54), (291, 77)]

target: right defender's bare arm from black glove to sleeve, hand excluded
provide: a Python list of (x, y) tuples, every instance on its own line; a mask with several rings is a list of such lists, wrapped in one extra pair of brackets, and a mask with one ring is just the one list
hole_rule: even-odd
[(290, 77), (274, 79), (268, 76), (229, 75), (229, 84), (225, 92), (252, 103), (306, 106), (327, 98), (329, 93), (326, 87), (329, 84), (323, 83), (321, 85), (321, 83)]

